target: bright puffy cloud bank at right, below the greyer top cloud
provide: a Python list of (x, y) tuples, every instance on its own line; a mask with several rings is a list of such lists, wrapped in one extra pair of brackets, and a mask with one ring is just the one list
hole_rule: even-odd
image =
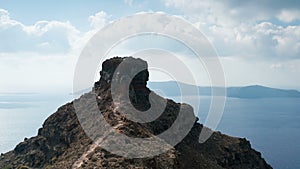
[(262, 22), (234, 28), (210, 26), (206, 31), (223, 56), (288, 60), (299, 57), (299, 30), (300, 26), (283, 27)]

